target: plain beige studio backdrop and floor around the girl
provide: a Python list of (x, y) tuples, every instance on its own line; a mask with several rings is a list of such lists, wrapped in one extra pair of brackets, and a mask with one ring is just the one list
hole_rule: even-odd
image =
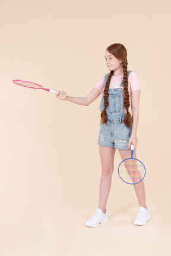
[[(1, 0), (1, 256), (166, 255), (170, 248), (170, 1)], [(122, 43), (141, 81), (137, 158), (147, 170), (151, 220), (133, 225), (138, 200), (119, 179), (109, 222), (99, 207), (101, 96), (90, 106), (58, 100), (13, 79), (86, 96)]]

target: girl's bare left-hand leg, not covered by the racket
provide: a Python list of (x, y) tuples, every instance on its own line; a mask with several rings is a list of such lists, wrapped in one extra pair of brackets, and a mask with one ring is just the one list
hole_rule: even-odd
[(107, 198), (109, 196), (112, 173), (114, 170), (114, 156), (116, 148), (99, 146), (102, 175), (100, 179), (99, 208), (106, 213)]

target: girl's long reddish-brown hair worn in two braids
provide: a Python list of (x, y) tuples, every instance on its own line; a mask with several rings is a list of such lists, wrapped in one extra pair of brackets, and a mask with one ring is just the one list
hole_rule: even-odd
[[(124, 118), (124, 120), (122, 122), (125, 122), (125, 124), (132, 128), (132, 116), (131, 113), (129, 113), (129, 106), (130, 106), (130, 102), (129, 102), (129, 92), (128, 92), (128, 77), (127, 77), (127, 66), (128, 66), (128, 61), (127, 61), (127, 51), (124, 45), (122, 45), (121, 43), (114, 43), (113, 45), (110, 45), (109, 47), (107, 47), (108, 52), (110, 52), (113, 56), (115, 56), (115, 58), (117, 58), (118, 60), (122, 61), (122, 68), (123, 68), (123, 72), (124, 72), (124, 90), (123, 90), (123, 97), (124, 97), (124, 106), (126, 109), (126, 116)], [(107, 78), (106, 81), (106, 86), (105, 86), (105, 90), (104, 90), (104, 109), (101, 113), (101, 119), (102, 119), (102, 124), (107, 124), (107, 113), (106, 113), (106, 108), (109, 105), (108, 102), (108, 89), (109, 89), (109, 85), (110, 85), (110, 80), (112, 75), (114, 74), (114, 71), (111, 70), (109, 73), (109, 76)]]

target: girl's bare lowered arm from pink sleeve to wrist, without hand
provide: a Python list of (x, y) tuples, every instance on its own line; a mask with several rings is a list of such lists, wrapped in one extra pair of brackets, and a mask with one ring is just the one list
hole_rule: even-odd
[(132, 110), (132, 136), (137, 134), (137, 125), (139, 117), (140, 91), (132, 91), (131, 95), (131, 110)]

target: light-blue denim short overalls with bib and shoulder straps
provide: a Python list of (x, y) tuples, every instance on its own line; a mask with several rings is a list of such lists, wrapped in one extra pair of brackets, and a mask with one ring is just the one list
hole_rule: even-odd
[[(131, 70), (128, 71), (128, 77)], [(104, 109), (104, 89), (106, 86), (106, 81), (109, 73), (105, 75), (105, 80), (103, 82), (103, 93), (102, 100), (100, 102), (100, 112)], [(106, 147), (115, 147), (118, 149), (128, 150), (128, 142), (131, 137), (131, 128), (129, 128), (124, 122), (121, 122), (125, 118), (124, 113), (124, 102), (123, 102), (123, 92), (124, 90), (124, 79), (122, 80), (120, 86), (122, 88), (109, 89), (109, 105), (106, 108), (107, 113), (107, 124), (102, 124), (100, 119), (100, 131), (98, 145)], [(130, 99), (129, 99), (130, 102)]]

